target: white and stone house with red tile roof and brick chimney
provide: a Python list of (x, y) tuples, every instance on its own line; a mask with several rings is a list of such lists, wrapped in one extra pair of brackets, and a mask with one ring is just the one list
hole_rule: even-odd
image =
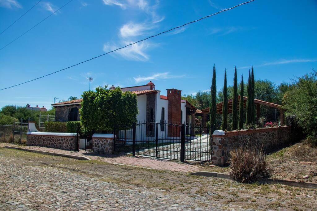
[[(115, 87), (111, 86), (109, 89), (112, 90)], [(200, 110), (181, 99), (182, 91), (178, 89), (167, 89), (166, 96), (161, 95), (161, 91), (156, 90), (155, 84), (150, 81), (146, 85), (124, 87), (121, 90), (131, 91), (137, 95), (138, 121), (194, 125), (192, 121), (195, 120), (195, 115), (202, 116)], [(77, 99), (52, 104), (55, 108), (55, 121), (79, 121), (78, 110), (81, 107), (81, 101), (82, 99)]]

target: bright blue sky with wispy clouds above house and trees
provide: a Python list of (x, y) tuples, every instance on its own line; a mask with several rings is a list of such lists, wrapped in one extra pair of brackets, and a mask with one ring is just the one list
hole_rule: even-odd
[[(38, 0), (0, 0), (0, 31)], [(44, 19), (68, 0), (42, 0), (0, 35), (0, 48)], [(0, 88), (18, 84), (182, 25), (243, 1), (73, 0), (55, 15), (0, 51)], [(49, 77), (0, 91), (7, 104), (50, 108), (54, 97), (80, 97), (109, 84), (121, 87), (152, 80), (183, 94), (207, 90), (213, 64), (217, 88), (233, 83), (234, 65), (247, 78), (290, 82), (317, 68), (317, 1), (256, 0), (127, 47)]]

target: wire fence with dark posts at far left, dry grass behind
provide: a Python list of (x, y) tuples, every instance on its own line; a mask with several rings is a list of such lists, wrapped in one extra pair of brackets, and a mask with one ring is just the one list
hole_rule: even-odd
[(20, 122), (14, 122), (12, 125), (0, 126), (0, 142), (12, 144), (26, 144), (26, 133), (28, 132), (28, 123), (21, 119)]

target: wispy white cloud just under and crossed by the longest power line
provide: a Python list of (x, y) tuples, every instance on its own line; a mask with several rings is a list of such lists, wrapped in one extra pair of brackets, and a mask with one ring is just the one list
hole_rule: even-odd
[[(131, 42), (129, 41), (121, 42), (121, 46), (126, 46), (128, 44), (131, 44)], [(149, 56), (146, 54), (146, 49), (149, 48), (149, 45), (150, 45), (149, 42), (146, 42), (146, 41), (136, 43), (132, 46), (115, 51), (111, 55), (113, 56), (119, 55), (128, 60), (147, 61), (149, 59)], [(119, 48), (119, 46), (115, 44), (110, 44), (110, 43), (104, 44), (103, 46), (104, 52), (113, 51), (117, 48)]]

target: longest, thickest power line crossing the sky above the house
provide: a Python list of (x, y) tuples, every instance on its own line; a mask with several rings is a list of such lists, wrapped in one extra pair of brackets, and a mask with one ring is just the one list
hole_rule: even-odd
[(247, 4), (247, 3), (250, 3), (250, 2), (253, 2), (253, 1), (255, 1), (255, 0), (250, 0), (250, 1), (248, 1), (248, 2), (244, 2), (244, 3), (238, 4), (238, 5), (234, 6), (234, 7), (230, 7), (230, 8), (228, 8), (228, 9), (223, 9), (223, 10), (221, 10), (221, 11), (219, 11), (219, 12), (216, 12), (216, 13), (214, 13), (214, 14), (211, 14), (211, 15), (209, 15), (209, 16), (204, 16), (204, 17), (202, 17), (202, 18), (200, 18), (200, 19), (197, 19), (196, 21), (191, 21), (191, 22), (185, 23), (185, 24), (183, 24), (183, 25), (181, 25), (181, 26), (171, 28), (170, 30), (161, 32), (161, 33), (156, 34), (156, 35), (152, 35), (152, 36), (147, 37), (147, 38), (145, 38), (145, 39), (143, 39), (143, 40), (136, 41), (136, 42), (131, 43), (131, 44), (129, 44), (129, 45), (126, 45), (126, 46), (124, 46), (124, 47), (117, 48), (117, 49), (115, 49), (115, 50), (113, 50), (113, 51), (109, 51), (109, 52), (107, 52), (107, 53), (104, 53), (104, 54), (101, 54), (101, 55), (99, 55), (99, 56), (93, 57), (93, 58), (91, 58), (91, 59), (87, 59), (87, 60), (82, 61), (82, 62), (79, 62), (79, 63), (77, 63), (77, 64), (75, 64), (75, 65), (71, 65), (71, 66), (69, 66), (69, 67), (63, 68), (63, 69), (61, 69), (61, 70), (58, 70), (58, 71), (55, 71), (55, 72), (51, 72), (51, 73), (49, 73), (49, 74), (47, 74), (47, 75), (44, 75), (44, 76), (41, 76), (41, 77), (39, 77), (39, 78), (34, 78), (34, 79), (32, 79), (32, 80), (23, 82), (23, 83), (21, 83), (21, 84), (16, 84), (16, 85), (13, 85), (13, 86), (9, 86), (9, 87), (7, 87), (7, 88), (0, 89), (0, 91), (1, 91), (1, 90), (5, 90), (5, 89), (9, 89), (9, 88), (12, 88), (12, 87), (15, 87), (15, 86), (19, 86), (19, 85), (22, 85), (22, 84), (26, 84), (26, 83), (29, 83), (29, 82), (31, 82), (31, 81), (35, 81), (35, 80), (40, 79), (40, 78), (44, 78), (44, 77), (46, 77), (46, 76), (55, 74), (55, 73), (57, 73), (57, 72), (66, 70), (66, 69), (68, 69), (68, 68), (71, 68), (71, 67), (74, 67), (74, 66), (83, 64), (83, 63), (85, 63), (85, 62), (87, 62), (87, 61), (90, 61), (90, 60), (93, 60), (93, 59), (97, 59), (97, 58), (99, 58), (99, 57), (101, 57), (101, 56), (107, 55), (108, 53), (115, 52), (115, 51), (117, 51), (117, 50), (120, 50), (120, 49), (125, 48), (125, 47), (128, 47), (128, 46), (132, 46), (132, 45), (134, 45), (134, 44), (136, 44), (136, 43), (138, 43), (138, 42), (142, 42), (142, 41), (144, 41), (144, 40), (147, 40), (147, 39), (150, 39), (150, 38), (159, 36), (160, 34), (164, 34), (164, 33), (170, 32), (170, 31), (172, 31), (172, 30), (174, 30), (174, 29), (184, 27), (184, 26), (186, 26), (186, 25), (188, 25), (188, 24), (191, 24), (191, 23), (194, 23), (194, 22), (203, 20), (203, 19), (208, 18), (208, 17), (211, 17), (211, 16), (215, 16), (215, 15), (221, 13), (221, 12), (228, 11), (228, 10), (230, 10), (230, 9), (234, 9), (234, 8), (236, 8), (236, 7), (238, 7), (238, 6), (241, 6), (241, 5), (243, 5), (243, 4)]

